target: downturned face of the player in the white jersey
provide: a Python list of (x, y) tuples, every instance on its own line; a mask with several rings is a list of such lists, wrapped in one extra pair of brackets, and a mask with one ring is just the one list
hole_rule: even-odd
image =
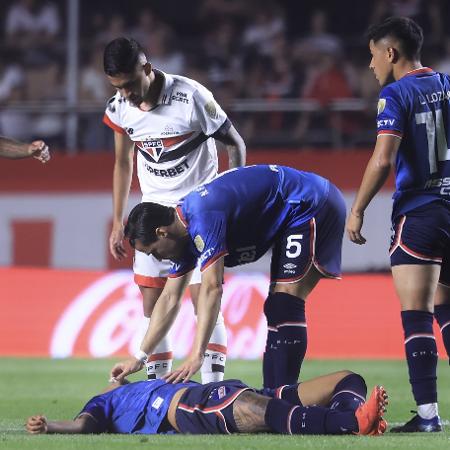
[(139, 107), (150, 87), (147, 72), (148, 64), (140, 61), (133, 73), (121, 73), (114, 77), (108, 75), (108, 79), (122, 97), (125, 97), (133, 106)]

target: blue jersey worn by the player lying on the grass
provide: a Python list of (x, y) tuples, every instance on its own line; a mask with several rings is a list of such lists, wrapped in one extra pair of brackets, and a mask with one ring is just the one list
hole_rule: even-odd
[(175, 393), (198, 383), (170, 384), (163, 380), (126, 384), (89, 400), (78, 414), (89, 414), (99, 432), (156, 434)]

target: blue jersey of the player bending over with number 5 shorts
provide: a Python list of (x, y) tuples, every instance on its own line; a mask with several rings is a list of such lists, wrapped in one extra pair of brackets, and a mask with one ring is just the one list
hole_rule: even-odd
[(283, 166), (232, 169), (199, 186), (177, 207), (191, 248), (169, 277), (201, 270), (224, 256), (233, 267), (260, 258), (285, 229), (310, 220), (328, 197), (330, 183)]

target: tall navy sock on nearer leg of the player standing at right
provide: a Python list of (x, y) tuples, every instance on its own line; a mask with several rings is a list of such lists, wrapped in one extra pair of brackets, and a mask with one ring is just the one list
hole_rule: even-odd
[(437, 347), (433, 335), (433, 314), (402, 311), (409, 381), (417, 405), (437, 402)]

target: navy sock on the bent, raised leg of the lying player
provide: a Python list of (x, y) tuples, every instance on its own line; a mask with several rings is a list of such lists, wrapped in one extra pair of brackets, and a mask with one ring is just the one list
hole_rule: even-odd
[(367, 386), (357, 373), (344, 377), (336, 385), (330, 400), (330, 408), (339, 411), (356, 411), (366, 401)]

